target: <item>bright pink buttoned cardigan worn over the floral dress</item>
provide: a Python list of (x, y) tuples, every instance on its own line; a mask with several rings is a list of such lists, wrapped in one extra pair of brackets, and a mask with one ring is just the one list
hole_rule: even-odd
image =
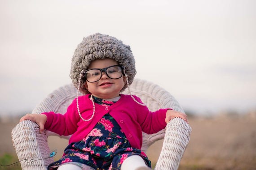
[[(47, 116), (44, 128), (59, 135), (71, 135), (69, 144), (83, 140), (93, 129), (98, 121), (109, 113), (122, 128), (132, 147), (141, 149), (142, 131), (148, 134), (156, 133), (165, 128), (165, 116), (168, 109), (149, 111), (146, 106), (141, 106), (133, 101), (131, 96), (120, 94), (118, 102), (111, 106), (102, 106), (95, 103), (95, 115), (92, 120), (85, 122), (80, 119), (76, 99), (68, 106), (64, 115), (54, 112), (42, 113)], [(134, 96), (138, 102), (141, 99)], [(89, 119), (93, 114), (93, 103), (89, 94), (79, 96), (79, 109), (84, 119)]]

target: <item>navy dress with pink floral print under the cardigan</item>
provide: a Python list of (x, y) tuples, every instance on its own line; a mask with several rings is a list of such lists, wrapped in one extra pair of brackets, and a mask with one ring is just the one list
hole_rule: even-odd
[[(93, 100), (104, 106), (115, 103), (94, 96)], [(120, 170), (123, 161), (132, 155), (141, 156), (147, 166), (151, 167), (146, 154), (140, 149), (132, 148), (115, 119), (106, 114), (83, 140), (69, 144), (64, 156), (51, 163), (48, 169), (56, 170), (58, 166), (69, 163), (82, 169), (90, 166), (92, 170)]]

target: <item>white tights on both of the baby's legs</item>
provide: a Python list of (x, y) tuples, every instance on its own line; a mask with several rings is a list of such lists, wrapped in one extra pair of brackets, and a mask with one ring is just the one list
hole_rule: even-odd
[[(58, 170), (83, 170), (74, 164), (64, 164), (58, 167)], [(92, 167), (88, 166), (85, 170), (93, 170)], [(132, 155), (124, 160), (121, 166), (121, 170), (151, 170), (146, 166), (145, 161), (139, 155)]]

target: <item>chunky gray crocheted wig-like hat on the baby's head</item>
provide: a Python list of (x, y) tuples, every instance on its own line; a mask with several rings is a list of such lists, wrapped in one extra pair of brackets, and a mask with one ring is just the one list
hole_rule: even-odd
[[(73, 84), (78, 89), (79, 76), (82, 70), (87, 70), (91, 61), (95, 59), (115, 59), (118, 64), (124, 66), (128, 75), (128, 82), (132, 84), (136, 74), (135, 60), (130, 46), (123, 44), (122, 41), (109, 35), (96, 33), (83, 39), (75, 49), (72, 57), (70, 77)], [(81, 79), (80, 92), (87, 94), (88, 90), (84, 88), (85, 81)], [(127, 84), (124, 88), (127, 88)]]

